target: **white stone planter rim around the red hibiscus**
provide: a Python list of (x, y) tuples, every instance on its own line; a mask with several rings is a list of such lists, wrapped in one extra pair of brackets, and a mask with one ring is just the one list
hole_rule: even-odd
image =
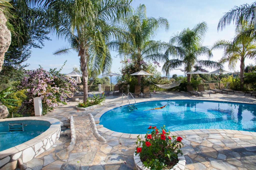
[[(134, 159), (136, 168), (138, 170), (150, 170), (150, 169), (148, 169), (147, 167), (145, 167), (143, 165), (143, 163), (141, 162), (139, 154), (137, 154), (137, 156), (135, 156), (135, 153), (134, 153), (133, 154), (133, 159)], [(184, 170), (185, 169), (185, 164), (186, 164), (185, 157), (178, 154), (178, 160), (179, 160), (178, 163), (176, 165), (174, 165), (172, 169), (168, 169), (168, 170)]]

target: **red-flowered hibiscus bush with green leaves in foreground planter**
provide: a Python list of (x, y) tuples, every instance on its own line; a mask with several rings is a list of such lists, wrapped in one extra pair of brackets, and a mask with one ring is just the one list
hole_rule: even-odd
[(150, 169), (171, 169), (178, 162), (182, 137), (170, 136), (170, 131), (165, 129), (165, 125), (160, 129), (156, 126), (149, 126), (152, 129), (145, 135), (145, 140), (139, 136), (136, 141), (138, 145), (135, 155), (139, 154), (144, 166)]

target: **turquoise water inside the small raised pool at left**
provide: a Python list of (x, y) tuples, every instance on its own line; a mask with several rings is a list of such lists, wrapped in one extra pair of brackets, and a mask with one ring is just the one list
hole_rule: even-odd
[[(9, 132), (8, 124), (23, 123), (24, 131)], [(45, 132), (50, 127), (47, 121), (22, 120), (0, 122), (0, 151), (24, 143)]]

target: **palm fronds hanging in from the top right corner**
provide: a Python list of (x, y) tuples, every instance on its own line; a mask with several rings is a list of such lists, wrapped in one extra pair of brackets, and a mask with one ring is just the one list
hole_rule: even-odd
[[(242, 27), (244, 24), (253, 25), (254, 22), (254, 9), (256, 7), (256, 2), (251, 4), (243, 4), (234, 6), (233, 9), (229, 10), (224, 16), (221, 17), (218, 23), (218, 31), (226, 28), (227, 25), (231, 23), (235, 24), (236, 27)], [(250, 29), (236, 36), (237, 41), (243, 41), (243, 39), (252, 37), (256, 39), (256, 30), (251, 27)]]

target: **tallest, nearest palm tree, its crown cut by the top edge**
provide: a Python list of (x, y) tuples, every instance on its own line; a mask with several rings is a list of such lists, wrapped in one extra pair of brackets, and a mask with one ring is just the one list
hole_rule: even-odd
[(88, 98), (88, 75), (100, 74), (111, 67), (111, 56), (106, 42), (120, 38), (125, 32), (113, 25), (112, 20), (130, 16), (131, 0), (55, 0), (42, 9), (39, 22), (50, 25), (59, 38), (70, 43), (70, 48), (61, 48), (55, 55), (68, 54), (75, 50), (80, 56), (83, 75), (83, 102)]

